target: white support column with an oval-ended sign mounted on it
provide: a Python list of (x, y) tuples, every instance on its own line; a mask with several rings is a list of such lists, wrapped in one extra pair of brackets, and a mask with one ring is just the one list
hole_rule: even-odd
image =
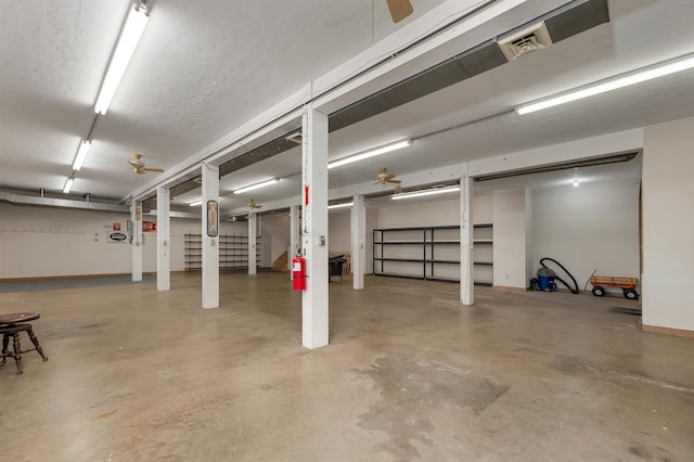
[(202, 170), (203, 308), (219, 308), (219, 168)]

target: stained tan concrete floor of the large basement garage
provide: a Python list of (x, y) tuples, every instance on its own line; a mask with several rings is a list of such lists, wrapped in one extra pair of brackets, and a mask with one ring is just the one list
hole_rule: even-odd
[[(694, 341), (620, 297), (368, 278), (331, 283), (300, 346), (286, 273), (0, 294), (50, 357), (0, 368), (7, 461), (691, 461)], [(28, 343), (28, 342), (26, 342)]]

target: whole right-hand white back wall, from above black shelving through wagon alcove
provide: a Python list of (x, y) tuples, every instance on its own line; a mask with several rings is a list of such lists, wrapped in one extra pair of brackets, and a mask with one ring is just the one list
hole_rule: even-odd
[[(458, 198), (408, 201), (378, 208), (377, 228), (458, 224)], [(526, 287), (541, 257), (562, 262), (579, 288), (594, 269), (638, 278), (638, 220), (639, 185), (632, 180), (484, 192), (473, 201), (473, 221), (493, 223), (493, 278), (502, 286)], [(477, 247), (477, 259), (491, 259), (484, 246)], [(478, 267), (475, 278), (488, 279), (491, 272), (489, 267)]]

